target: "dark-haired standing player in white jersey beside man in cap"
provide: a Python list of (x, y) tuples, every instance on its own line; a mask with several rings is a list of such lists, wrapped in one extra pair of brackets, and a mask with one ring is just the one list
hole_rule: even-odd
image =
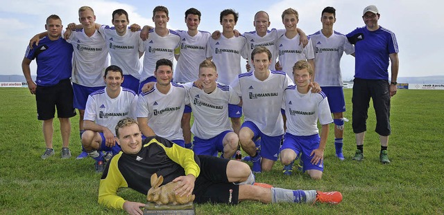
[[(334, 146), (336, 157), (344, 160), (342, 153), (345, 100), (341, 75), (341, 57), (345, 52), (354, 55), (355, 48), (347, 37), (333, 30), (336, 21), (336, 10), (324, 8), (321, 13), (322, 29), (310, 35), (311, 46), (314, 48), (314, 80), (321, 85), (323, 93), (330, 98), (330, 111), (334, 117)], [(313, 76), (311, 75), (311, 76)], [(296, 82), (296, 81), (295, 81)], [(348, 121), (348, 120), (347, 120)]]

